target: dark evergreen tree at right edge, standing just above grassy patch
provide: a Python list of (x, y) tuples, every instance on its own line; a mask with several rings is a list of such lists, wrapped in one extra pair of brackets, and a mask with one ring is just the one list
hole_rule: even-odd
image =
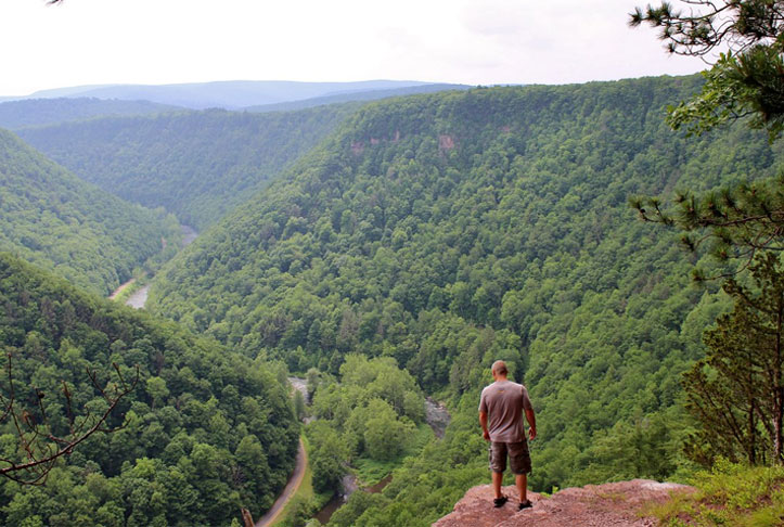
[(687, 408), (703, 426), (689, 444), (699, 461), (784, 462), (784, 266), (768, 253), (751, 277), (754, 290), (724, 284), (734, 310), (706, 332), (707, 355), (684, 375)]

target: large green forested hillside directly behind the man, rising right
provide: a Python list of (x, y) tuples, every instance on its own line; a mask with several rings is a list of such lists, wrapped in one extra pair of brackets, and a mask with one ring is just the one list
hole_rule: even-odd
[[(679, 374), (724, 301), (717, 284), (690, 285), (695, 260), (628, 200), (768, 175), (780, 158), (741, 126), (673, 133), (665, 107), (698, 82), (364, 106), (173, 260), (152, 307), (293, 370), (394, 357), (451, 397), (446, 440), (384, 497), (349, 503), (372, 525), (427, 525), (487, 477), (476, 408), (494, 359), (540, 414), (535, 489), (667, 477), (687, 427)], [(335, 525), (363, 524), (349, 514)]]

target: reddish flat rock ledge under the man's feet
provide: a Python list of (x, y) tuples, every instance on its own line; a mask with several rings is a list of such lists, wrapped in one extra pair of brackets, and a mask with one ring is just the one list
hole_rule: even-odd
[(664, 502), (672, 492), (692, 492), (692, 487), (634, 479), (583, 488), (564, 489), (551, 497), (528, 492), (534, 507), (517, 510), (517, 490), (504, 487), (509, 502), (492, 506), (492, 487), (468, 490), (454, 511), (433, 527), (654, 527), (656, 519), (640, 514), (645, 503)]

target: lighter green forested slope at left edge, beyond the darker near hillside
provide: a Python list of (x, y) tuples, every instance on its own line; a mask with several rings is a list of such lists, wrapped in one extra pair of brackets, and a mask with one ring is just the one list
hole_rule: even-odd
[(107, 194), (0, 130), (0, 250), (105, 295), (179, 240), (173, 217)]

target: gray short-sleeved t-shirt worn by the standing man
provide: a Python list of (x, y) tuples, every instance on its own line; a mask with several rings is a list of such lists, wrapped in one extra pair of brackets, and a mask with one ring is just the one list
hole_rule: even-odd
[(479, 411), (488, 415), (487, 429), (496, 442), (526, 440), (523, 410), (534, 410), (528, 390), (512, 381), (496, 381), (481, 390)]

